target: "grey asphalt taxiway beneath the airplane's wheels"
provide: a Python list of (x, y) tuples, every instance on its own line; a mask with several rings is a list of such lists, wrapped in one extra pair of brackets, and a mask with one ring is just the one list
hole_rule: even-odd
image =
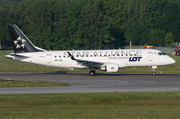
[(0, 80), (69, 83), (70, 86), (1, 87), (0, 94), (180, 91), (180, 74), (0, 73)]

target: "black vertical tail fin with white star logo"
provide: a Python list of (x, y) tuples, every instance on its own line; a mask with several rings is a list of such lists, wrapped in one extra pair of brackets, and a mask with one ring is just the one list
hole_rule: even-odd
[(45, 50), (35, 47), (24, 33), (15, 25), (8, 25), (11, 41), (15, 53), (44, 52)]

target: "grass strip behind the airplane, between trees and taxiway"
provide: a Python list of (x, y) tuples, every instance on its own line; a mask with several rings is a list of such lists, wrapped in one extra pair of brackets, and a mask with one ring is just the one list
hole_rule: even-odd
[[(71, 72), (71, 73), (88, 73), (89, 69), (74, 69), (73, 71), (61, 68), (40, 66), (5, 58), (5, 55), (11, 51), (0, 51), (0, 72)], [(175, 64), (160, 66), (156, 73), (180, 73), (180, 56), (168, 54), (176, 60)], [(97, 70), (97, 73), (105, 73)], [(129, 67), (120, 69), (118, 73), (152, 73), (151, 67)]]

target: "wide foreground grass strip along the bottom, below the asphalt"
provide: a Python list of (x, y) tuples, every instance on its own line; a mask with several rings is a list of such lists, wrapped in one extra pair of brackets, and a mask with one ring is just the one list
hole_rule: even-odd
[(180, 92), (0, 95), (2, 119), (176, 119)]

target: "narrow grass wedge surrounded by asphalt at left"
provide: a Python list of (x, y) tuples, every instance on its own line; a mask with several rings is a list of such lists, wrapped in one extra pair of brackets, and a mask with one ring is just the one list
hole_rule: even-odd
[(0, 80), (0, 87), (68, 86), (67, 83)]

